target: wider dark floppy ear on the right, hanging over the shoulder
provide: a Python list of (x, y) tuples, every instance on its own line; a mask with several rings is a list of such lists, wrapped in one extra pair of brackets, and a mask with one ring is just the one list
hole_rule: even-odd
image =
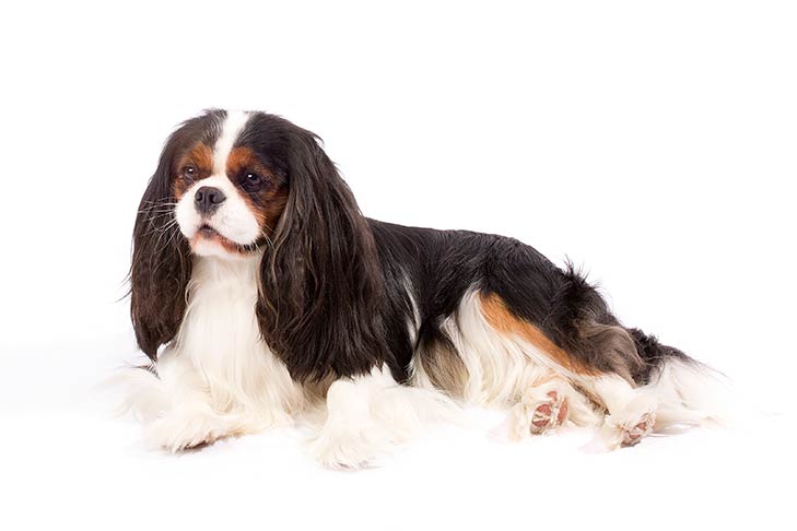
[(295, 126), (288, 137), (290, 191), (260, 264), (260, 331), (296, 380), (367, 374), (388, 356), (371, 228), (319, 139)]

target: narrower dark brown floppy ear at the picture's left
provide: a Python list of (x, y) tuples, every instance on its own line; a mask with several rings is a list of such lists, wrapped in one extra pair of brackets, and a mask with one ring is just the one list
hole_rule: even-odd
[(191, 275), (190, 248), (175, 220), (171, 174), (179, 131), (161, 154), (141, 198), (133, 228), (130, 266), (130, 317), (139, 347), (152, 359), (177, 334)]

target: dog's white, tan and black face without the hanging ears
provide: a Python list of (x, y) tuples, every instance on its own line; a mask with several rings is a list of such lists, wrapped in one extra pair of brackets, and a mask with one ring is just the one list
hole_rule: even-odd
[(184, 126), (169, 182), (194, 253), (242, 257), (273, 235), (289, 187), (280, 126), (247, 113), (211, 113)]

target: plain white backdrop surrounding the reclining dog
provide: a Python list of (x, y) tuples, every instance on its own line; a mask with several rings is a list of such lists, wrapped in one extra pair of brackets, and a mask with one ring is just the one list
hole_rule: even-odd
[[(695, 0), (4, 7), (2, 527), (794, 523), (773, 484), (795, 472), (796, 14)], [(207, 107), (320, 134), (366, 215), (570, 257), (624, 322), (785, 415), (611, 456), (585, 455), (583, 434), (506, 446), (443, 429), (359, 474), (317, 469), (290, 434), (144, 451), (91, 386), (137, 358), (118, 302), (136, 209), (166, 135)]]

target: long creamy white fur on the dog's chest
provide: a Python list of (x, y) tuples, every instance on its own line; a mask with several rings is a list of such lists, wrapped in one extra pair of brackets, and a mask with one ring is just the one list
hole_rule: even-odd
[(219, 413), (268, 426), (289, 422), (303, 393), (260, 337), (255, 316), (260, 259), (195, 258), (183, 324), (157, 371), (166, 385), (201, 392)]

